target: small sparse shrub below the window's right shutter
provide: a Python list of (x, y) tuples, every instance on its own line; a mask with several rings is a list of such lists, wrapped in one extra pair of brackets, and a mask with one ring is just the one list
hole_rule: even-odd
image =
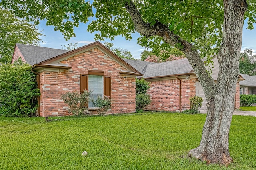
[(111, 99), (108, 96), (98, 96), (96, 100), (92, 99), (94, 107), (97, 107), (99, 115), (105, 115), (108, 110), (111, 108)]

